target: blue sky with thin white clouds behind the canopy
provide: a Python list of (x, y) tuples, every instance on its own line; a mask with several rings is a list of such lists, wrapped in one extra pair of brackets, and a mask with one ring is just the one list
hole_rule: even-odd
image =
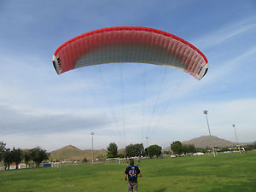
[[(256, 141), (256, 2), (0, 0), (0, 141), (9, 148), (117, 143), (169, 146), (208, 135)], [(207, 56), (198, 81), (140, 63), (57, 75), (52, 55), (84, 32), (145, 26), (170, 32)], [(148, 140), (145, 139), (148, 137)]]

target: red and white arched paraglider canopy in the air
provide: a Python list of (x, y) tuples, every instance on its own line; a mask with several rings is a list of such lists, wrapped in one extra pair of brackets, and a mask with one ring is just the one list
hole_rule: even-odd
[(202, 79), (207, 57), (189, 42), (168, 32), (141, 26), (115, 26), (86, 32), (56, 49), (58, 74), (79, 67), (137, 62), (173, 67)]

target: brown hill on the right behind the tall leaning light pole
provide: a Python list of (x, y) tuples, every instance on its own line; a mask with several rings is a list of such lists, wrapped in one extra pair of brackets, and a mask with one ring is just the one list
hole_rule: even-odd
[[(191, 139), (189, 141), (182, 142), (183, 144), (193, 144), (195, 145), (195, 148), (206, 148), (206, 147), (212, 147), (212, 144), (214, 147), (224, 148), (224, 147), (231, 147), (235, 146), (236, 143), (232, 143), (230, 141), (215, 137), (215, 136), (201, 136), (196, 137), (194, 139)], [(170, 151), (171, 150), (171, 144), (170, 146), (163, 148), (163, 151)]]

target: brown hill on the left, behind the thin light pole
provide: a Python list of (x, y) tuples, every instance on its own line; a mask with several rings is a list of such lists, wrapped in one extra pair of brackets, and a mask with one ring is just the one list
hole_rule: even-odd
[[(94, 150), (93, 154), (94, 159), (96, 159), (97, 157), (106, 156), (107, 151), (104, 149)], [(91, 150), (81, 150), (73, 145), (67, 145), (52, 151), (49, 156), (49, 160), (83, 160), (84, 158), (91, 160)]]

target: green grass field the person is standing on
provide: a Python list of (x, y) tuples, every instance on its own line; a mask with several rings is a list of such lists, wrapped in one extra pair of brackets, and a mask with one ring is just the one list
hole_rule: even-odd
[[(143, 160), (140, 192), (256, 191), (256, 152)], [(126, 191), (125, 164), (61, 166), (0, 172), (0, 191)]]

